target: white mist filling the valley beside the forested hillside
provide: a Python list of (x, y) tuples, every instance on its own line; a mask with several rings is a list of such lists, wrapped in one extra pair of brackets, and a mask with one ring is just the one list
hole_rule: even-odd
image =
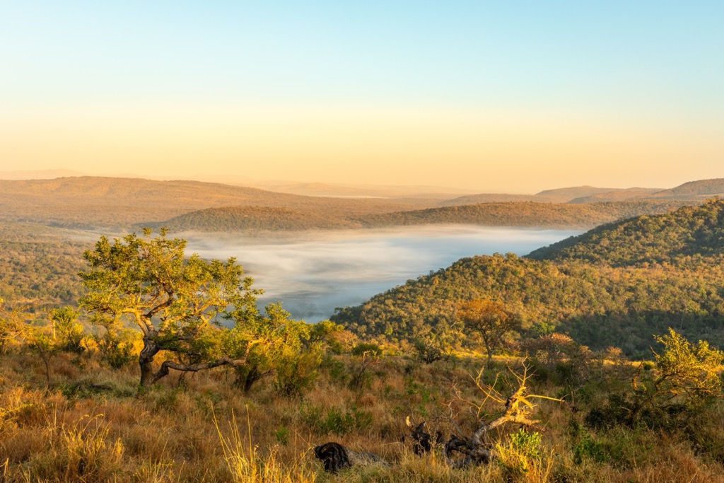
[(282, 301), (295, 319), (319, 322), (328, 319), (335, 307), (358, 305), (460, 258), (496, 252), (525, 255), (579, 233), (447, 225), (265, 238), (183, 236), (188, 239), (188, 253), (209, 259), (235, 256), (253, 277), (254, 287), (264, 289), (260, 306)]

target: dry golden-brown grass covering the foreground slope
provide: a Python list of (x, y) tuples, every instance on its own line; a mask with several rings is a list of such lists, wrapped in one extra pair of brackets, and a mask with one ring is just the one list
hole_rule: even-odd
[[(0, 356), (0, 482), (724, 481), (721, 418), (696, 445), (684, 434), (648, 429), (591, 432), (605, 458), (576, 463), (580, 437), (571, 428), (581, 414), (550, 401), (536, 408), (539, 457), (520, 453), (505, 432), (491, 435), (500, 437), (499, 461), (481, 468), (451, 469), (439, 452), (411, 453), (400, 442), (406, 416), (447, 436), (451, 408), (464, 432), (474, 427), (452, 385), (465, 398), (479, 397), (468, 374), (480, 364), (384, 358), (363, 390), (322, 371), (316, 389), (296, 400), (264, 383), (243, 395), (223, 369), (188, 377), (184, 387), (168, 378), (137, 395), (135, 368), (111, 371), (69, 356), (58, 357), (49, 389), (33, 358)], [(560, 388), (535, 390), (556, 395)], [(390, 465), (325, 474), (311, 449), (327, 441), (374, 451)]]

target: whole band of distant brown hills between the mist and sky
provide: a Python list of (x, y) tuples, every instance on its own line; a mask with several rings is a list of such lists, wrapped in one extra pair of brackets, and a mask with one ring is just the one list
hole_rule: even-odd
[[(578, 186), (545, 190), (533, 196), (481, 194), (443, 201), (435, 198), (434, 193), (430, 198), (334, 198), (328, 188), (328, 185), (310, 183), (303, 189), (319, 190), (327, 195), (300, 196), (190, 180), (90, 176), (0, 180), (0, 221), (95, 228), (164, 221), (170, 224), (173, 219), (174, 224), (183, 224), (189, 230), (214, 227), (216, 230), (255, 230), (260, 226), (304, 230), (441, 223), (592, 227), (615, 219), (662, 213), (684, 204), (699, 203), (704, 199), (701, 193), (724, 190), (724, 180), (689, 182), (656, 193), (648, 188), (610, 190)], [(530, 201), (536, 203), (527, 203)], [(224, 210), (240, 206), (283, 208), (295, 211), (295, 214), (287, 213), (282, 217), (272, 210), (266, 215), (263, 211), (250, 214)], [(209, 220), (193, 214), (209, 209), (219, 209), (203, 212)], [(177, 218), (185, 214), (189, 216)], [(235, 220), (235, 216), (246, 219)], [(264, 222), (264, 216), (271, 219)], [(249, 217), (256, 219), (256, 223), (252, 224)]]

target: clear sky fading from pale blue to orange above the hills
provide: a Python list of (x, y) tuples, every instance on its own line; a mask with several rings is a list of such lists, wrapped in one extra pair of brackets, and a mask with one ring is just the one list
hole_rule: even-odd
[(0, 171), (724, 177), (724, 2), (0, 0)]

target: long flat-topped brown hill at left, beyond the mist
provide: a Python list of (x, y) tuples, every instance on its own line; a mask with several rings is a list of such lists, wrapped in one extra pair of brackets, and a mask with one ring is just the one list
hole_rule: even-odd
[(272, 193), (198, 181), (114, 177), (0, 180), (0, 220), (63, 227), (128, 227), (223, 206), (269, 206), (337, 216), (435, 206), (437, 200), (349, 199)]

